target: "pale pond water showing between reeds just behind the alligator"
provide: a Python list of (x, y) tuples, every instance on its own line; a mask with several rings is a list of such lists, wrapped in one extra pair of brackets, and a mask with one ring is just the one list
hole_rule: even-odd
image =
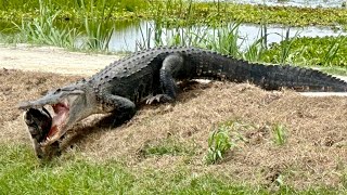
[[(108, 44), (108, 49), (112, 52), (120, 52), (120, 51), (136, 51), (137, 43), (142, 40), (151, 39), (150, 47), (154, 47), (154, 22), (142, 21), (137, 25), (129, 25), (128, 27), (123, 27), (121, 29), (116, 29), (112, 35), (111, 42)], [(268, 29), (268, 44), (273, 42), (280, 42), (286, 34), (287, 27), (279, 26), (279, 25), (269, 25)], [(175, 28), (167, 29), (162, 28), (162, 42), (163, 44), (167, 44), (169, 40), (171, 40), (172, 35), (177, 31), (180, 34), (184, 34), (188, 30), (191, 30), (193, 34), (205, 34), (213, 35), (216, 32), (216, 29), (208, 28), (206, 26), (195, 26), (191, 28)], [(237, 44), (241, 49), (246, 49), (249, 44), (252, 44), (255, 40), (259, 39), (260, 26), (259, 25), (250, 25), (250, 24), (241, 24), (239, 27), (240, 38), (237, 40)], [(325, 37), (325, 36), (346, 36), (347, 32), (342, 30), (334, 31), (327, 27), (292, 27), (290, 29), (290, 37), (294, 37), (295, 35), (298, 37)], [(144, 42), (144, 41), (142, 41)], [(145, 41), (147, 42), (147, 41)]]

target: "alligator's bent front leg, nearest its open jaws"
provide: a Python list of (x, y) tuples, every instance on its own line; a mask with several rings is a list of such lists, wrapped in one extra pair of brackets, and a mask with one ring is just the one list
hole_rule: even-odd
[(111, 120), (112, 126), (117, 126), (133, 117), (136, 114), (136, 105), (126, 98), (107, 94), (103, 98), (103, 110), (112, 113), (104, 121)]

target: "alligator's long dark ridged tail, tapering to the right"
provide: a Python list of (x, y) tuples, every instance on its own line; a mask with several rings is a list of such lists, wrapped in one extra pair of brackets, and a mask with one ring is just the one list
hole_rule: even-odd
[[(207, 65), (208, 66), (208, 65)], [(228, 57), (210, 67), (213, 70), (197, 68), (200, 75), (211, 76), (236, 82), (249, 81), (266, 90), (290, 88), (296, 91), (346, 92), (347, 82), (319, 70), (290, 65), (250, 64)], [(201, 66), (203, 67), (203, 66)], [(204, 70), (205, 69), (205, 70)]]

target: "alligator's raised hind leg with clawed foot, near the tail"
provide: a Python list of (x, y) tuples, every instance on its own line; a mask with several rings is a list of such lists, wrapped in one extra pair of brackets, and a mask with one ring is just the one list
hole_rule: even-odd
[(180, 54), (170, 54), (163, 61), (163, 66), (160, 68), (160, 87), (164, 93), (156, 94), (146, 100), (147, 104), (157, 102), (169, 102), (177, 96), (177, 84), (174, 76), (177, 72), (182, 69), (183, 56)]

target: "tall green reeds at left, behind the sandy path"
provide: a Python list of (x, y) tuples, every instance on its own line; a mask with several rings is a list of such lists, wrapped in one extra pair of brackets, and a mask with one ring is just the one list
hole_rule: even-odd
[[(53, 5), (43, 0), (39, 0), (39, 2), (40, 14), (38, 17), (33, 21), (23, 20), (21, 24), (14, 23), (18, 34), (11, 39), (12, 41), (103, 52), (108, 50), (114, 27), (108, 25), (112, 10), (107, 13), (108, 8), (106, 8), (105, 0), (103, 4), (99, 3), (98, 5), (93, 5), (93, 1), (90, 2), (90, 13), (102, 9), (103, 13), (93, 17), (86, 15), (83, 29), (77, 29), (64, 23), (57, 25), (56, 16), (60, 11), (55, 12)], [(79, 0), (79, 2), (83, 9), (88, 8), (85, 6), (85, 0)], [(76, 46), (78, 39), (83, 41), (81, 46)]]

